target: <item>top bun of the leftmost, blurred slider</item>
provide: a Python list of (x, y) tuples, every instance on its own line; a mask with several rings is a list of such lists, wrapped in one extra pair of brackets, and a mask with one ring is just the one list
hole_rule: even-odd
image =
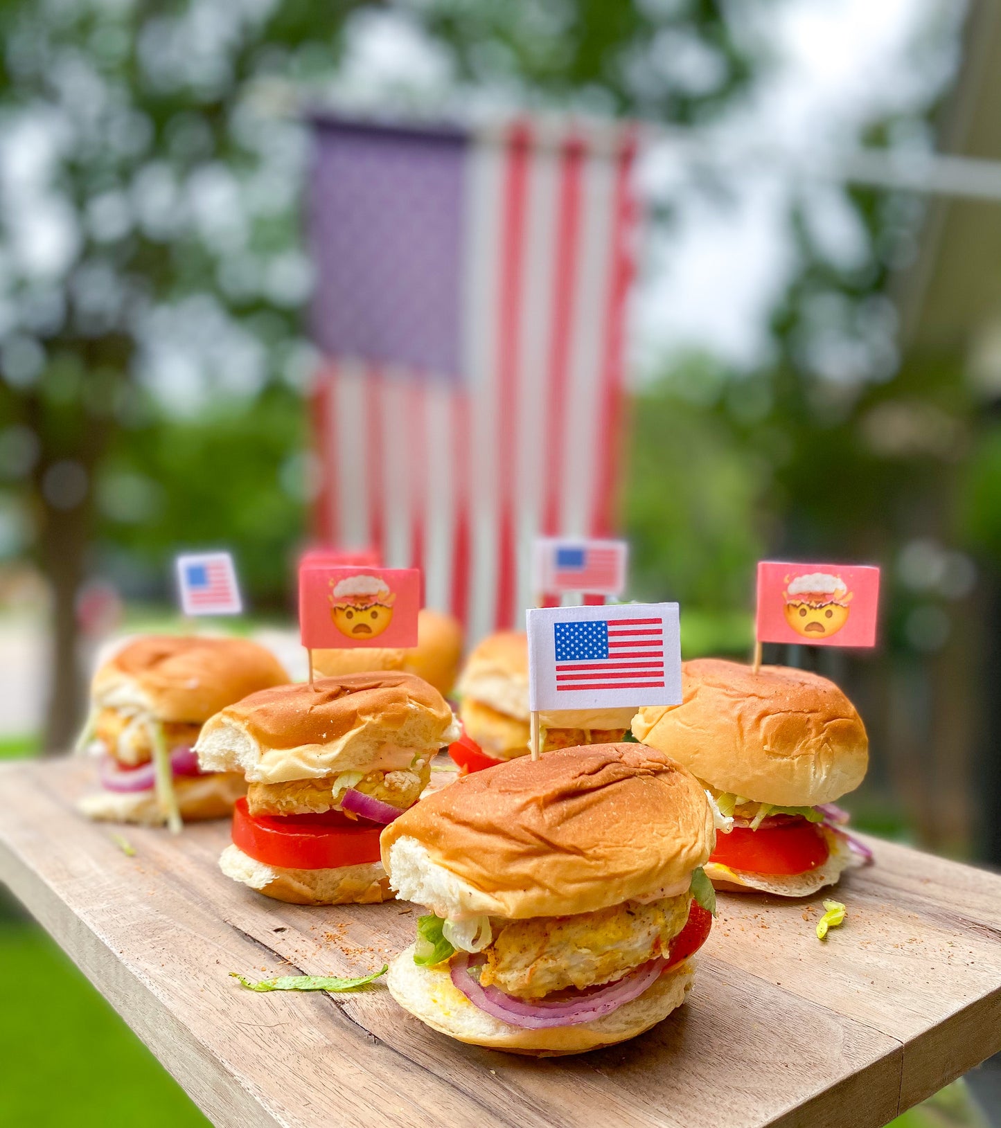
[(288, 680), (274, 654), (248, 638), (147, 635), (98, 669), (90, 695), (102, 707), (201, 723), (247, 694)]

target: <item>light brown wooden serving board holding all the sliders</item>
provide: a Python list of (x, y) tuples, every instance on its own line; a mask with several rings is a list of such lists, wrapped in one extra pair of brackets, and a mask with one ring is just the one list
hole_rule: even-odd
[(969, 866), (873, 841), (824, 943), (823, 893), (721, 895), (685, 1006), (612, 1049), (532, 1059), (437, 1034), (381, 984), (242, 988), (230, 971), (375, 970), (419, 910), (269, 900), (219, 872), (225, 822), (174, 838), (80, 819), (89, 773), (0, 766), (0, 880), (217, 1125), (877, 1128), (1001, 1049), (1001, 878)]

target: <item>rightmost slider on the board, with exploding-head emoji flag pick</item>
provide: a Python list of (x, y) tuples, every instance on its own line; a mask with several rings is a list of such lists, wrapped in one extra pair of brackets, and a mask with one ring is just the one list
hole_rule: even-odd
[(717, 889), (806, 897), (871, 860), (834, 805), (862, 782), (869, 741), (833, 681), (699, 659), (683, 664), (682, 686), (680, 705), (641, 708), (632, 728), (684, 764), (731, 827), (705, 867)]

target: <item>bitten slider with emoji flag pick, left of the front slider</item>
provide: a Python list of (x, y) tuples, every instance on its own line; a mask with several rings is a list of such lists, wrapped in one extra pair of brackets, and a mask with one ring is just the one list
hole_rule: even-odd
[(433, 686), (395, 671), (279, 686), (227, 706), (195, 746), (204, 769), (249, 784), (222, 872), (296, 905), (388, 899), (379, 831), (418, 801), (457, 729)]

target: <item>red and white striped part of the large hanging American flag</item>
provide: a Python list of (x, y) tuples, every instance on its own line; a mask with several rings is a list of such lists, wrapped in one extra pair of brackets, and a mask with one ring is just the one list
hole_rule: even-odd
[[(524, 623), (538, 535), (612, 531), (631, 126), (525, 118), (469, 146), (463, 380), (328, 361), (319, 537), (419, 566), (471, 640)], [(429, 280), (433, 284), (433, 280)]]

